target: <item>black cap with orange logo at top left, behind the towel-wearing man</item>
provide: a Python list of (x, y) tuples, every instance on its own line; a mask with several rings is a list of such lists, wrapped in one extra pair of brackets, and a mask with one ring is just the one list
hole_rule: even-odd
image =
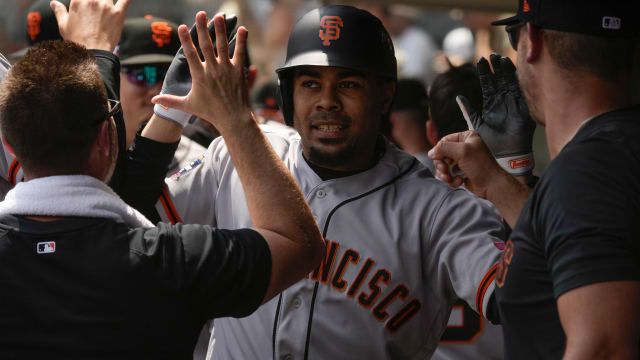
[[(71, 0), (58, 0), (64, 6), (69, 8)], [(27, 27), (25, 35), (27, 36), (28, 46), (9, 54), (9, 59), (21, 59), (27, 51), (35, 44), (45, 40), (61, 40), (60, 30), (58, 29), (58, 20), (49, 3), (51, 0), (38, 0), (31, 5), (27, 12)]]

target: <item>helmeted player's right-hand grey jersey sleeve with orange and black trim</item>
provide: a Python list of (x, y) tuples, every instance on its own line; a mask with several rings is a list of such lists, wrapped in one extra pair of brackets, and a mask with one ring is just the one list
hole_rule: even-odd
[[(429, 229), (426, 274), (445, 294), (453, 292), (485, 316), (506, 231), (486, 203), (463, 189), (437, 204)], [(435, 278), (434, 278), (435, 277)]]

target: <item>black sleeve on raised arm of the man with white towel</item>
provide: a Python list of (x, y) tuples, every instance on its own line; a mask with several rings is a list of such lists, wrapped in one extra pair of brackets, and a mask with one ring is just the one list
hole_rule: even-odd
[(135, 238), (132, 249), (152, 258), (164, 286), (204, 318), (247, 316), (264, 299), (271, 252), (255, 230), (158, 223)]

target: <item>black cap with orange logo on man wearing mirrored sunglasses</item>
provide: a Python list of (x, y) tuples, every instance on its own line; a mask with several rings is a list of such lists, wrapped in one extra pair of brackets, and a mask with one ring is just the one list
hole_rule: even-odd
[(162, 18), (145, 16), (124, 22), (114, 53), (123, 66), (170, 64), (180, 48), (178, 26)]

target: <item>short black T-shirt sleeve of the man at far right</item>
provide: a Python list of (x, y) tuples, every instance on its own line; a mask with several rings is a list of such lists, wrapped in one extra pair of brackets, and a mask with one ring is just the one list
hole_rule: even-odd
[[(563, 150), (538, 184), (534, 224), (559, 297), (574, 288), (640, 280), (640, 184), (622, 145), (591, 139)], [(541, 200), (542, 199), (542, 200)]]

